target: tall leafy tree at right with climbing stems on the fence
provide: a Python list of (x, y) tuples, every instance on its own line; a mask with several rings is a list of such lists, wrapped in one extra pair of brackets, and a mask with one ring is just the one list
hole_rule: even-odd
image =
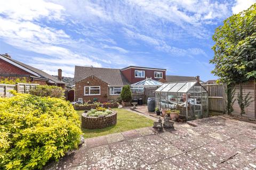
[[(223, 25), (218, 27), (213, 35), (214, 57), (210, 63), (215, 64), (215, 69), (212, 73), (220, 78), (219, 81), (230, 87), (256, 78), (255, 23), (256, 4), (253, 4), (247, 10), (234, 14), (223, 21)], [(243, 91), (242, 85), (239, 87), (239, 90)], [(227, 90), (227, 92), (231, 91)], [(243, 94), (240, 92), (241, 95)], [(227, 94), (227, 96), (233, 95)], [(243, 106), (246, 106), (245, 100), (241, 100), (241, 102)], [(232, 103), (233, 100), (228, 98), (227, 105), (230, 107)], [(244, 112), (243, 108), (241, 108), (242, 112)]]

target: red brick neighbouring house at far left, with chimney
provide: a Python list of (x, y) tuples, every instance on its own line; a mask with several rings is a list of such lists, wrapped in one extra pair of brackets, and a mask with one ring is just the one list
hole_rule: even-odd
[(36, 69), (35, 67), (13, 60), (8, 54), (0, 54), (0, 80), (26, 79), (27, 82), (41, 85), (59, 86), (65, 88), (66, 83), (61, 81), (61, 69), (58, 70), (59, 79)]

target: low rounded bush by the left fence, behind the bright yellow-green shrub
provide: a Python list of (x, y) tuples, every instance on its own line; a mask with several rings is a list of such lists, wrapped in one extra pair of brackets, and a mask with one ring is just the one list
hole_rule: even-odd
[(61, 87), (47, 85), (36, 86), (36, 89), (29, 90), (29, 94), (40, 97), (64, 97), (63, 89)]

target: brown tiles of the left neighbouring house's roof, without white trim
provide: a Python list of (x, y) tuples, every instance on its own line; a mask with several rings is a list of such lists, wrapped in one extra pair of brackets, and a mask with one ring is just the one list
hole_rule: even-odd
[[(0, 54), (0, 55), (1, 55), (1, 54)], [(21, 62), (16, 61), (16, 60), (13, 60), (12, 58), (6, 57), (5, 55), (1, 55), (1, 56), (7, 58), (8, 60), (10, 60), (10, 61), (12, 61), (12, 62), (14, 62), (14, 63), (16, 63), (16, 64), (21, 65), (22, 67), (25, 67), (26, 69), (28, 69), (28, 70), (30, 70), (30, 71), (33, 71), (33, 72), (39, 74), (42, 78), (48, 79), (48, 80), (49, 80), (49, 83), (66, 84), (65, 82), (60, 81), (60, 80), (54, 78), (52, 75), (47, 74), (47, 73), (43, 72), (42, 70), (36, 69), (35, 67), (32, 67), (32, 66), (30, 66), (30, 65), (21, 63)]]

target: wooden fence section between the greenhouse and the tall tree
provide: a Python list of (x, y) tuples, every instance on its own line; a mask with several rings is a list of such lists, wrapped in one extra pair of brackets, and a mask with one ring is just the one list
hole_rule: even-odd
[(210, 114), (223, 114), (226, 112), (226, 95), (223, 84), (203, 84), (208, 91), (208, 104)]

